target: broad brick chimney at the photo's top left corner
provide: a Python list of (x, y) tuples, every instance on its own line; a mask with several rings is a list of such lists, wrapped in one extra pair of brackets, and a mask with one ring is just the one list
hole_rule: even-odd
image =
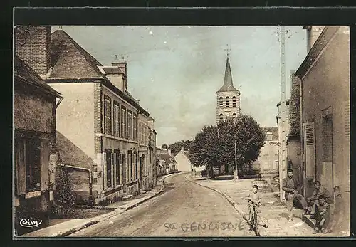
[(16, 26), (14, 41), (16, 55), (46, 78), (51, 68), (51, 26)]

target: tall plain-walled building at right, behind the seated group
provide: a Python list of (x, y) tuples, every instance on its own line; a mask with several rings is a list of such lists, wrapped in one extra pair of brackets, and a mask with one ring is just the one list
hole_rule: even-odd
[(349, 28), (325, 26), (310, 47), (295, 72), (300, 80), (303, 192), (310, 196), (315, 180), (329, 191), (339, 186), (347, 209), (345, 224), (350, 229)]

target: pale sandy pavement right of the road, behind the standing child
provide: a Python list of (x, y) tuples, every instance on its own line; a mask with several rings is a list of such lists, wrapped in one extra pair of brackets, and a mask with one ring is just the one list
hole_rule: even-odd
[[(210, 189), (223, 194), (235, 207), (236, 211), (242, 215), (248, 215), (247, 201), (244, 197), (252, 193), (252, 182), (255, 179), (241, 179), (239, 182), (234, 180), (209, 180), (187, 177), (190, 181), (206, 186)], [(263, 205), (260, 208), (260, 215), (268, 228), (259, 227), (261, 236), (328, 236), (328, 234), (313, 234), (313, 228), (302, 221), (301, 209), (293, 209), (294, 218), (289, 222), (287, 219), (287, 209), (285, 204), (279, 200), (279, 193), (272, 192), (270, 189), (261, 190), (261, 201)]]

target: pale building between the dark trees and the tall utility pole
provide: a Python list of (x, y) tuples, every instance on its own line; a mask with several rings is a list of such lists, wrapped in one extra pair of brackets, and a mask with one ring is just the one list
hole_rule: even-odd
[(263, 127), (266, 135), (258, 159), (253, 162), (253, 169), (261, 173), (278, 174), (278, 127)]

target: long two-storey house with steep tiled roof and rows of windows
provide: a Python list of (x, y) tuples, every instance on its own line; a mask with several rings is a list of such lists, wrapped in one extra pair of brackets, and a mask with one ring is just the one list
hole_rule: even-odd
[[(111, 65), (102, 65), (65, 31), (48, 30), (51, 27), (38, 26), (33, 31), (43, 34), (35, 34), (33, 42), (46, 47), (36, 61), (51, 58), (43, 78), (65, 97), (57, 109), (56, 136), (77, 203), (107, 204), (139, 193), (140, 184), (154, 184), (148, 177), (152, 162), (146, 149), (150, 114), (127, 91), (127, 63), (116, 57)], [(27, 49), (33, 52), (32, 46)], [(140, 160), (147, 161), (147, 169), (140, 167)], [(147, 182), (142, 183), (145, 172)]]

